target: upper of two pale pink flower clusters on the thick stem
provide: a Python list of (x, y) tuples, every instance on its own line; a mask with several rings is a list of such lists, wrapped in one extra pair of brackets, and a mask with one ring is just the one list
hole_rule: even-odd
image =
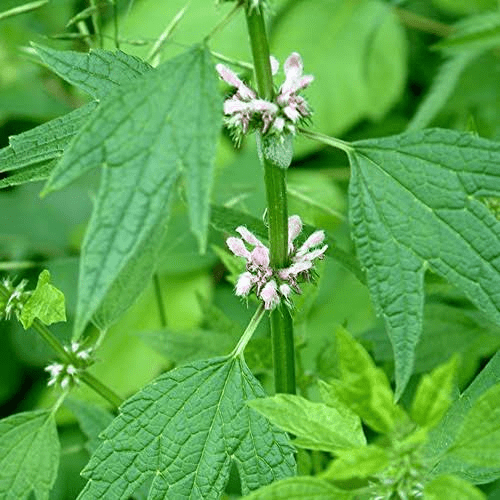
[[(285, 61), (285, 81), (272, 102), (257, 98), (256, 92), (224, 64), (217, 64), (216, 69), (225, 82), (236, 88), (236, 93), (224, 102), (224, 114), (237, 140), (250, 129), (263, 134), (295, 134), (295, 124), (311, 115), (306, 100), (298, 94), (314, 77), (302, 74), (302, 58), (297, 52)], [(274, 57), (271, 57), (271, 69), (273, 75), (279, 69), (279, 62)]]

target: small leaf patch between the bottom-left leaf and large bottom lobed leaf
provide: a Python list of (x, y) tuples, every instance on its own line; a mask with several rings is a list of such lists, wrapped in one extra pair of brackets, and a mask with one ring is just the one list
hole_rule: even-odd
[(102, 442), (99, 434), (111, 423), (113, 415), (100, 406), (75, 398), (66, 398), (64, 406), (73, 413), (82, 432), (87, 436), (85, 448), (94, 453)]

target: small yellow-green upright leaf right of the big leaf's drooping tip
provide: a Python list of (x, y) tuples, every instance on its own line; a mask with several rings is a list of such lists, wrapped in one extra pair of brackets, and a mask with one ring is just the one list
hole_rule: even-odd
[(434, 427), (452, 403), (455, 388), (457, 358), (432, 373), (423, 375), (418, 384), (411, 406), (411, 418), (422, 427)]

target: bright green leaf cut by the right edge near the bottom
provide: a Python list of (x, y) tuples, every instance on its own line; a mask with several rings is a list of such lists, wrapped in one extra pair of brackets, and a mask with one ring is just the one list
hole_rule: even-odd
[(473, 465), (500, 468), (499, 403), (500, 383), (477, 399), (448, 452)]

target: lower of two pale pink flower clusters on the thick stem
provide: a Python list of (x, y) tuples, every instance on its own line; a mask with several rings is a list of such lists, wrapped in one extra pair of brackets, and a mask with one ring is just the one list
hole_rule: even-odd
[[(322, 259), (328, 248), (323, 245), (324, 231), (315, 231), (298, 248), (294, 241), (302, 231), (302, 221), (298, 215), (288, 218), (288, 255), (289, 267), (273, 270), (270, 266), (269, 249), (246, 227), (239, 226), (236, 232), (241, 238), (233, 236), (226, 240), (229, 250), (246, 260), (246, 271), (238, 277), (235, 293), (247, 297), (255, 289), (257, 297), (264, 302), (266, 309), (274, 309), (283, 299), (291, 306), (292, 291), (301, 293), (299, 279), (309, 280), (316, 259)], [(247, 245), (253, 247), (251, 250)]]

